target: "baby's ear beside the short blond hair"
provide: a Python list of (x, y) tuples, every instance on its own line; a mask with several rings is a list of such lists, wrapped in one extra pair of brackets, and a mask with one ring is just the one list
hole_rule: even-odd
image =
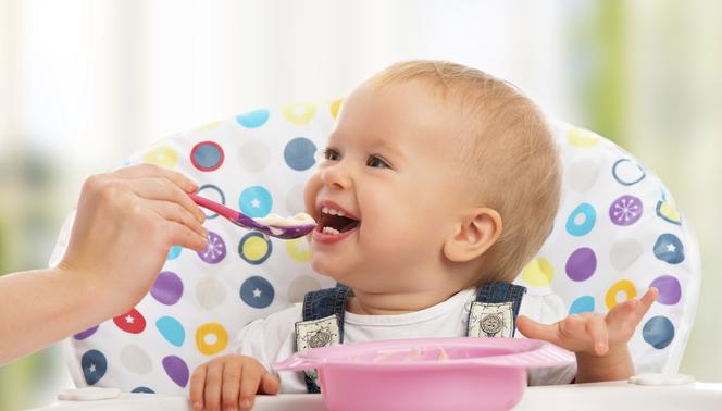
[(470, 209), (444, 242), (444, 256), (464, 262), (482, 256), (501, 235), (501, 215), (488, 208)]

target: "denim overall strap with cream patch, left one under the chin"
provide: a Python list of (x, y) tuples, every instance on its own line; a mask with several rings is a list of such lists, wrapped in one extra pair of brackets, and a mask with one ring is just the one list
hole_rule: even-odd
[[(346, 301), (351, 295), (351, 289), (341, 284), (306, 294), (303, 321), (296, 323), (297, 351), (344, 342)], [(321, 393), (316, 370), (306, 370), (303, 373), (308, 391)]]

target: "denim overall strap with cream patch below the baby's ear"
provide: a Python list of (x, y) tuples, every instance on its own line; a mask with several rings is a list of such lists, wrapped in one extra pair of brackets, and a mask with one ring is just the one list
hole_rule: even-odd
[(470, 337), (511, 338), (526, 288), (510, 283), (487, 283), (478, 288), (469, 310), (466, 335)]

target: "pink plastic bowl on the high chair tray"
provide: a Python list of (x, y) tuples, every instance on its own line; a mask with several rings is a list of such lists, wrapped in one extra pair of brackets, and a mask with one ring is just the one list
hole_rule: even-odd
[(535, 339), (424, 338), (311, 349), (275, 370), (316, 369), (329, 411), (508, 410), (522, 398), (527, 368), (572, 361)]

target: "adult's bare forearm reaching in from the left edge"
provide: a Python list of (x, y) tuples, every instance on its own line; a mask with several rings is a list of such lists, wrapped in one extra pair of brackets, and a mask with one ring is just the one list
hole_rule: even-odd
[(60, 269), (0, 277), (0, 365), (111, 316), (96, 291)]

